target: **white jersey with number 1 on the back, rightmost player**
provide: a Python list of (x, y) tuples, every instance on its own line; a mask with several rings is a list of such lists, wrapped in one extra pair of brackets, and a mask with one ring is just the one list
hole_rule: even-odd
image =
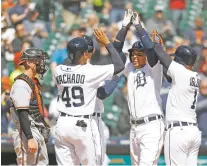
[(167, 74), (172, 78), (166, 107), (167, 122), (196, 123), (195, 110), (200, 85), (198, 73), (172, 61)]

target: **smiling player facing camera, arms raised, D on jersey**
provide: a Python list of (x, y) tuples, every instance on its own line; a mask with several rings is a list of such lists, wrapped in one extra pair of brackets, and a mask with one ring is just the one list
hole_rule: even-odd
[[(127, 11), (122, 29), (115, 41), (122, 50), (130, 25), (136, 27), (132, 10)], [(147, 53), (145, 53), (147, 51)], [(128, 81), (130, 110), (130, 155), (133, 165), (157, 165), (163, 145), (164, 123), (161, 110), (160, 88), (162, 67), (153, 51), (146, 50), (141, 41), (129, 49), (129, 62), (125, 65)]]

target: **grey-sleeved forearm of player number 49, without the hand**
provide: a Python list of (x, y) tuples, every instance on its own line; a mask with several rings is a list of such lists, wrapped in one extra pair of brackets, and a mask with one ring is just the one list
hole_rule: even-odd
[(124, 70), (124, 63), (112, 43), (107, 44), (106, 49), (111, 55), (111, 61), (114, 65), (114, 75), (116, 75)]

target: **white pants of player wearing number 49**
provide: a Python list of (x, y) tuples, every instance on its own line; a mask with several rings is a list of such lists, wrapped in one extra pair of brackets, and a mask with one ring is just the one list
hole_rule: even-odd
[[(87, 127), (77, 126), (83, 120)], [(58, 165), (99, 165), (95, 136), (98, 127), (93, 119), (60, 116), (55, 130), (55, 152)]]

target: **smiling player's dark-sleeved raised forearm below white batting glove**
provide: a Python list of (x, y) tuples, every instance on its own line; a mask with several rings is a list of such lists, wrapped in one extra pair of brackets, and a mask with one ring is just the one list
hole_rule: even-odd
[(119, 53), (122, 52), (127, 31), (128, 29), (123, 26), (118, 32), (118, 34), (116, 35), (116, 38), (114, 40), (114, 47)]

